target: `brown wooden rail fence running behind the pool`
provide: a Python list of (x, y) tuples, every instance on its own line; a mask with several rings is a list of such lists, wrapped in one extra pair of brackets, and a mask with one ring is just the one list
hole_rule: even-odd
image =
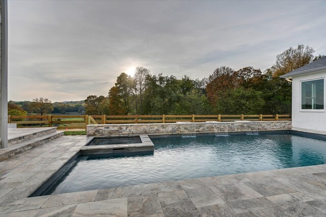
[(289, 114), (235, 114), (235, 115), (8, 115), (8, 123), (17, 123), (17, 127), (57, 127), (61, 129), (86, 129), (86, 125), (104, 125), (116, 123), (172, 123), (205, 121), (276, 121), (291, 120)]

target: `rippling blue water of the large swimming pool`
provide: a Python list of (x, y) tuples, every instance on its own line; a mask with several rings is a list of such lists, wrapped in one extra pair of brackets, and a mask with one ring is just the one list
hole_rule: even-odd
[(79, 157), (44, 194), (325, 164), (326, 141), (291, 134), (152, 138), (154, 154)]

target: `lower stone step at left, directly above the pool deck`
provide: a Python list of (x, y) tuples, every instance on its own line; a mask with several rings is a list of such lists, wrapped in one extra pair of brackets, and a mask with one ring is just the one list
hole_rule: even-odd
[(56, 139), (63, 136), (64, 132), (51, 132), (46, 135), (41, 135), (39, 137), (34, 137), (29, 140), (18, 142), (16, 144), (8, 146), (8, 148), (0, 149), (0, 161), (4, 161), (8, 158), (12, 158), (19, 153), (30, 150), (34, 147), (42, 145), (48, 141)]

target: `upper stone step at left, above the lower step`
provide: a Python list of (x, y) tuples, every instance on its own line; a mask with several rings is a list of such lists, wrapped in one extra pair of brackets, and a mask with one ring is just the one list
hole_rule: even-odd
[(17, 128), (10, 129), (11, 138), (8, 137), (8, 146), (28, 141), (40, 136), (57, 132), (56, 127), (51, 128)]

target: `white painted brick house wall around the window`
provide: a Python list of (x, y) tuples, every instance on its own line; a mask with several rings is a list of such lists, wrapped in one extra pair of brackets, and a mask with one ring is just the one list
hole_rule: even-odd
[[(326, 131), (326, 112), (325, 112), (325, 96), (326, 96), (326, 71), (318, 73), (310, 73), (292, 78), (292, 127)], [(301, 109), (301, 81), (312, 79), (324, 79), (324, 109), (308, 110)]]

